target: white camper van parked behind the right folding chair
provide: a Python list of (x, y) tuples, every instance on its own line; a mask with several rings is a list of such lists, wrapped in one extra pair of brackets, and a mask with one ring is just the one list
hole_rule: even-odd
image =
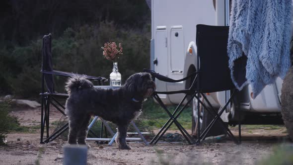
[[(229, 0), (151, 0), (151, 55), (150, 65), (155, 72), (171, 79), (182, 79), (196, 71), (196, 25), (229, 25)], [(230, 125), (284, 124), (281, 115), (281, 88), (278, 78), (267, 85), (255, 98), (251, 87), (245, 86), (236, 94), (222, 119)], [(158, 91), (189, 88), (189, 83), (156, 81)], [(229, 98), (230, 91), (209, 93), (214, 107), (220, 108)], [(179, 103), (180, 94), (161, 94), (166, 104)], [(197, 102), (193, 101), (193, 123), (197, 120)], [(292, 109), (293, 110), (293, 109)], [(206, 127), (209, 114), (202, 111), (201, 127)], [(193, 127), (195, 124), (193, 124)], [(192, 129), (193, 130), (193, 129)], [(212, 133), (213, 134), (213, 133)], [(214, 134), (219, 132), (214, 130)]]

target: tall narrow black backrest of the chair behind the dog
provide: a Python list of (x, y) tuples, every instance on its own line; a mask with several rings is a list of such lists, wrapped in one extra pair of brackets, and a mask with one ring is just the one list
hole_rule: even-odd
[[(51, 34), (45, 35), (43, 37), (43, 63), (42, 63), (42, 71), (53, 71), (52, 67), (52, 53), (51, 53), (51, 43), (52, 43), (52, 36)], [(43, 73), (45, 83), (47, 89), (50, 93), (55, 92), (54, 86), (54, 77), (51, 74)]]

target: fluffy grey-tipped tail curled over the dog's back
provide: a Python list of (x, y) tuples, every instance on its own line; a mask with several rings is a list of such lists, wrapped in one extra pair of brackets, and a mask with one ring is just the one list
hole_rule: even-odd
[(73, 91), (93, 87), (93, 84), (90, 81), (86, 80), (86, 78), (86, 75), (74, 75), (73, 77), (68, 79), (65, 85), (65, 90), (68, 92), (68, 94), (71, 94)]

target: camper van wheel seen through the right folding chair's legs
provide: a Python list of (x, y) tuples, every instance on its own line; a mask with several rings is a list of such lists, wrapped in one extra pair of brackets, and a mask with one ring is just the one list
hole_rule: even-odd
[[(201, 96), (200, 99), (203, 97)], [(192, 125), (191, 125), (191, 130), (192, 130), (192, 135), (196, 138), (197, 136), (197, 99), (194, 98), (192, 101)], [(200, 106), (200, 128), (201, 131), (204, 131), (208, 125), (211, 123), (213, 120), (214, 116), (212, 116), (203, 106)], [(216, 124), (211, 128), (210, 132), (208, 133), (207, 137), (209, 136), (218, 136), (218, 135), (223, 135), (225, 132), (223, 131), (221, 124), (219, 121), (216, 122)]]

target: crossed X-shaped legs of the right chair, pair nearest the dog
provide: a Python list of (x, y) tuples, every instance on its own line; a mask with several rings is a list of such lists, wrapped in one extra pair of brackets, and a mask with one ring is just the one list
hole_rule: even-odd
[[(182, 105), (182, 103), (184, 102), (184, 100), (186, 99), (187, 95), (184, 96), (184, 98), (181, 100), (181, 102), (179, 103), (179, 105), (177, 106), (177, 108), (175, 109), (175, 111), (173, 112), (173, 114), (171, 114), (168, 109), (165, 107), (165, 105), (163, 104), (163, 102), (160, 100), (159, 96), (155, 93), (153, 94), (153, 97), (155, 98), (155, 100), (164, 108), (164, 110), (167, 112), (167, 114), (169, 115), (169, 119), (168, 121), (164, 124), (164, 126), (160, 129), (160, 131), (155, 135), (155, 137), (151, 140), (150, 144), (156, 144), (158, 142), (158, 140), (164, 135), (164, 133), (169, 129), (169, 127), (175, 123), (175, 125), (177, 126), (177, 128), (179, 129), (179, 131), (182, 133), (182, 135), (184, 136), (184, 138), (187, 140), (187, 142), (189, 144), (193, 144), (193, 138), (189, 135), (189, 133), (182, 127), (181, 124), (178, 123), (178, 121), (176, 120), (177, 117), (180, 115), (180, 113), (183, 111), (183, 109), (189, 104), (189, 102), (192, 100), (190, 99), (188, 101), (188, 103), (186, 103), (180, 110), (179, 107)], [(193, 98), (193, 97), (192, 97)], [(177, 113), (177, 111), (179, 110), (179, 112)], [(177, 113), (177, 114), (176, 114)], [(174, 115), (176, 114), (176, 116), (174, 117)]]

